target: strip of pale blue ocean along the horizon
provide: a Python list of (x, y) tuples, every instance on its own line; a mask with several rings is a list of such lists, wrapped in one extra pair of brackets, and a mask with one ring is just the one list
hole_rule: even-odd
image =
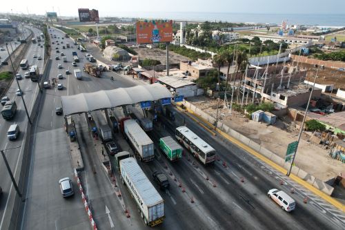
[(311, 14), (249, 14), (232, 12), (112, 12), (115, 17), (142, 17), (186, 21), (228, 21), (247, 23), (277, 23), (289, 25), (345, 26), (345, 15)]

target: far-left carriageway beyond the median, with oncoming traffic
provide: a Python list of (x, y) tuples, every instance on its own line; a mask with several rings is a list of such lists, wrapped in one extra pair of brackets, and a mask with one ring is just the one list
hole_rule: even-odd
[[(41, 31), (37, 30), (36, 28), (30, 28), (35, 35), (40, 35)], [(44, 48), (37, 46), (37, 44), (28, 44), (30, 46), (28, 48), (28, 52), (26, 54), (26, 59), (30, 66), (37, 65), (40, 68), (40, 71), (43, 67), (43, 59), (44, 59)], [(42, 60), (39, 61), (37, 58), (33, 58), (33, 54), (41, 55)], [(10, 64), (10, 61), (8, 61)], [(19, 67), (19, 66), (18, 66)], [(14, 67), (15, 68), (15, 67)], [(20, 73), (23, 79), (19, 80), (19, 84), (21, 86), (21, 90), (23, 91), (23, 98), (26, 102), (26, 106), (28, 108), (29, 113), (32, 111), (32, 102), (36, 98), (37, 94), (39, 93), (38, 85), (36, 82), (31, 82), (30, 79), (26, 79), (24, 77), (24, 73), (28, 70), (21, 70), (19, 68), (17, 73)], [(23, 102), (21, 97), (15, 95), (17, 90), (17, 82), (14, 80), (12, 85), (8, 89), (8, 93), (6, 94), (10, 99), (15, 100), (17, 102), (17, 114), (15, 115), (14, 119), (10, 121), (6, 121), (3, 117), (0, 117), (0, 136), (2, 137), (0, 140), (0, 149), (6, 150), (5, 151), (6, 158), (8, 163), (10, 164), (10, 168), (14, 177), (19, 174), (20, 166), (21, 166), (21, 159), (23, 157), (23, 149), (21, 146), (23, 145), (23, 139), (25, 135), (26, 126), (28, 124), (28, 118), (26, 117), (26, 112), (24, 110)], [(7, 131), (11, 124), (19, 124), (20, 128), (20, 135), (19, 138), (15, 141), (9, 141), (7, 138)], [(14, 187), (10, 180), (10, 175), (6, 170), (5, 163), (3, 159), (0, 160), (0, 186), (3, 189), (3, 197), (0, 200), (0, 229), (3, 226), (3, 223), (6, 222), (5, 216), (8, 214), (8, 209), (12, 207), (13, 199), (10, 198), (10, 195), (15, 195)], [(7, 213), (6, 213), (7, 212)], [(5, 215), (6, 214), (6, 215)]]

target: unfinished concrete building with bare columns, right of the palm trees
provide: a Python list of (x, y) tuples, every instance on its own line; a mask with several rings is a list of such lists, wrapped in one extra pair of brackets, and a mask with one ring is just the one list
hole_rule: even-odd
[[(247, 70), (241, 87), (246, 103), (273, 102), (279, 107), (302, 106), (308, 102), (311, 85), (304, 84), (306, 69), (297, 66), (255, 66)], [(313, 98), (318, 99), (321, 89), (315, 88)], [(248, 97), (250, 97), (248, 102)], [(251, 100), (251, 101), (250, 101)]]

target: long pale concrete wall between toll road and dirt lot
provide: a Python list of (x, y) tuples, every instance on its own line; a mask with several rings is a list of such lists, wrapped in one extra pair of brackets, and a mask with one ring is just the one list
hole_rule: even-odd
[[(201, 111), (199, 108), (197, 108), (195, 105), (191, 104), (190, 102), (184, 101), (183, 104), (189, 108), (191, 111), (202, 117), (203, 119), (207, 120), (211, 124), (215, 124), (215, 118), (211, 117), (207, 113), (204, 113), (204, 111)], [(282, 157), (279, 157), (275, 153), (269, 151), (268, 149), (264, 148), (260, 144), (257, 144), (253, 140), (250, 140), (248, 137), (242, 135), (241, 133), (238, 133), (237, 131), (233, 130), (232, 128), (226, 126), (226, 124), (222, 124), (221, 122), (218, 122), (218, 128), (221, 129), (221, 131), (227, 133), (231, 137), (235, 138), (236, 140), (239, 140), (243, 144), (246, 144), (250, 148), (253, 148), (253, 150), (257, 151), (257, 153), (260, 153), (264, 155), (269, 160), (272, 160), (279, 166), (284, 167), (285, 169), (288, 169), (290, 167), (290, 163), (285, 162), (285, 160)], [(308, 182), (312, 186), (315, 186), (315, 188), (319, 189), (320, 191), (323, 191), (324, 193), (328, 195), (332, 195), (334, 188), (325, 182), (322, 182), (321, 180), (315, 178), (313, 175), (306, 173), (302, 169), (299, 169), (297, 166), (293, 166), (292, 173), (294, 175), (297, 175), (299, 178), (304, 180), (305, 182)]]

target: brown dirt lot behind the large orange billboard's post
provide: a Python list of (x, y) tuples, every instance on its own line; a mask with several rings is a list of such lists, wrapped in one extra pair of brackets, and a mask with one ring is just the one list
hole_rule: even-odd
[[(137, 51), (140, 60), (150, 58), (161, 61), (161, 64), (166, 64), (166, 50), (161, 50), (159, 48), (135, 48), (135, 51)], [(188, 60), (188, 57), (184, 57), (175, 52), (169, 51), (170, 64), (179, 64), (180, 61)]]

